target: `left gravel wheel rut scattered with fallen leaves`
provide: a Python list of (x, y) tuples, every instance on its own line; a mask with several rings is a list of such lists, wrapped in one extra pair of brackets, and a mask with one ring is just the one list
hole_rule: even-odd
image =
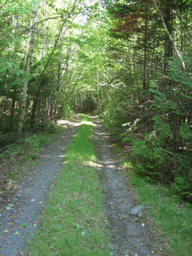
[(78, 129), (79, 118), (61, 125), (67, 125), (67, 129), (44, 148), (34, 171), (16, 185), (15, 195), (0, 214), (0, 256), (25, 255), (27, 241), (38, 230), (41, 210), (61, 171), (63, 155)]

